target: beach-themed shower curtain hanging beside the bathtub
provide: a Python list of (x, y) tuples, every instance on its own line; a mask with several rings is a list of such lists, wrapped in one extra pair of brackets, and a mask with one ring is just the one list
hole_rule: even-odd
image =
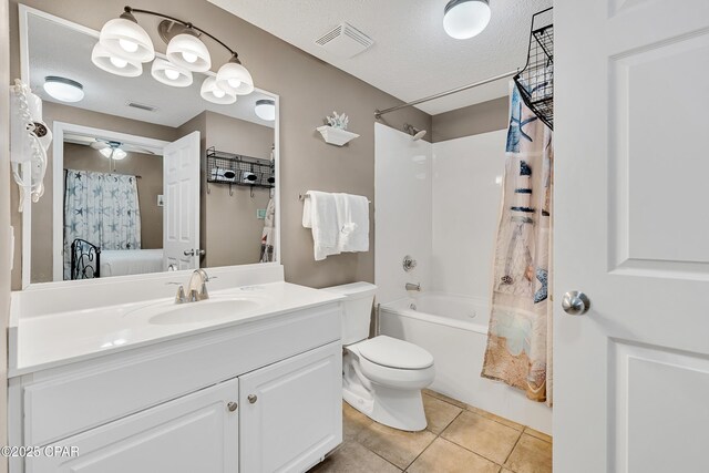
[(482, 377), (552, 405), (552, 131), (512, 86)]

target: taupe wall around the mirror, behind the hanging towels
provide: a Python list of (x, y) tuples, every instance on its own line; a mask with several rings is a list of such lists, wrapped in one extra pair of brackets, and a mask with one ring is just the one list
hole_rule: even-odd
[[(96, 30), (107, 20), (116, 18), (125, 4), (120, 0), (25, 0), (23, 3)], [(376, 109), (398, 105), (401, 101), (204, 0), (144, 0), (140, 7), (188, 18), (198, 27), (207, 28), (238, 50), (239, 59), (251, 72), (258, 88), (280, 95), (280, 235), (286, 279), (314, 287), (354, 280), (372, 281), (373, 222), (369, 253), (333, 256), (316, 263), (310, 233), (300, 225), (302, 203), (298, 200), (298, 194), (307, 189), (337, 191), (366, 195), (373, 200), (373, 112)], [(12, 34), (16, 37), (11, 71), (13, 76), (18, 76), (17, 0), (10, 0), (10, 8)], [(147, 24), (144, 18), (138, 16), (138, 21)], [(150, 33), (156, 48), (164, 51), (164, 43), (157, 34), (154, 31)], [(226, 50), (209, 41), (207, 43), (213, 63), (228, 60)], [(332, 110), (347, 113), (351, 131), (361, 135), (347, 146), (326, 144), (315, 130)], [(404, 122), (431, 130), (430, 115), (415, 109), (389, 114), (384, 121), (397, 128), (401, 128)], [(14, 219), (19, 222), (17, 214)]]

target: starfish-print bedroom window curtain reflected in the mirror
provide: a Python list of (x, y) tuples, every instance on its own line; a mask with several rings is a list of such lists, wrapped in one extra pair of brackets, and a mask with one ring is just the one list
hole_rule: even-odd
[(71, 279), (75, 238), (101, 249), (141, 248), (135, 176), (64, 169), (64, 279)]

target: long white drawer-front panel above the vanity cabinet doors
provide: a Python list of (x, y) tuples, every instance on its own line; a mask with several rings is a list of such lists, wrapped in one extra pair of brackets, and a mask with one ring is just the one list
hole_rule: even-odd
[(340, 305), (316, 307), (34, 374), (25, 445), (44, 445), (340, 338)]

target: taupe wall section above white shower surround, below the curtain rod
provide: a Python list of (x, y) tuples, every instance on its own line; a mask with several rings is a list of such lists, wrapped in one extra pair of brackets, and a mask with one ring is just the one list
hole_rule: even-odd
[(510, 101), (506, 96), (434, 115), (433, 143), (494, 132), (507, 127)]

